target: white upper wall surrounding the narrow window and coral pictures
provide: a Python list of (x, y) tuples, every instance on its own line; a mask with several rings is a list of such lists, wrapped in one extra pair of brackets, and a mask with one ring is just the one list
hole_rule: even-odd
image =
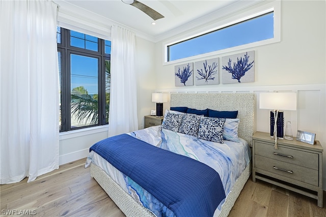
[[(281, 42), (209, 57), (221, 58), (255, 50), (255, 82), (220, 84), (218, 87), (325, 84), (325, 19), (324, 1), (282, 1)], [(156, 88), (171, 89), (175, 88), (174, 66), (189, 61), (163, 66), (162, 43), (155, 44)], [(207, 58), (191, 62), (205, 59)], [(221, 79), (220, 73), (220, 81)], [(215, 86), (205, 86), (211, 87)]]

